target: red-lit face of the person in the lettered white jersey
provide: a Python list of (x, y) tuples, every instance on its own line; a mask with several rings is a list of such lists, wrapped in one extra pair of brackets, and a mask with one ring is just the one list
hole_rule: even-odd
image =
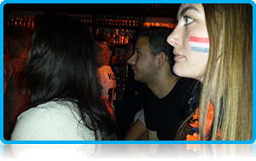
[(101, 43), (100, 51), (99, 55), (96, 56), (97, 64), (99, 66), (108, 64), (109, 57), (112, 55), (112, 50), (108, 48), (107, 43)]

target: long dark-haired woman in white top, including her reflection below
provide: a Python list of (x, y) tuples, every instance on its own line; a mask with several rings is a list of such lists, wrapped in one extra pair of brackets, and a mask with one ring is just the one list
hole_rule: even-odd
[[(119, 129), (102, 100), (96, 43), (88, 26), (46, 16), (32, 36), (20, 73), (32, 104), (17, 120), (11, 141), (116, 141)], [(82, 159), (112, 154), (116, 145), (12, 144), (15, 159)]]

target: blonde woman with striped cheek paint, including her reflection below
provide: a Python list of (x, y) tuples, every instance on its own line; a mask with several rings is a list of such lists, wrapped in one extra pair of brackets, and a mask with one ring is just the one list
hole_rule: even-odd
[[(182, 4), (167, 42), (173, 72), (202, 83), (200, 104), (177, 140), (249, 141), (253, 137), (253, 7), (251, 4)], [(252, 156), (252, 147), (187, 145), (200, 156)], [(186, 150), (185, 150), (186, 151)], [(249, 152), (249, 153), (248, 153)], [(184, 156), (185, 152), (179, 152)], [(212, 154), (210, 154), (212, 153)], [(209, 156), (210, 155), (210, 156)], [(243, 158), (244, 159), (244, 158)]]

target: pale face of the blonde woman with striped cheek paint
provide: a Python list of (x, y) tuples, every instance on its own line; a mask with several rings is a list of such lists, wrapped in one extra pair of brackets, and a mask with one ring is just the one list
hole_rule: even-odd
[(177, 26), (167, 38), (174, 47), (172, 71), (179, 77), (203, 82), (210, 52), (205, 9), (201, 3), (183, 3), (177, 20)]

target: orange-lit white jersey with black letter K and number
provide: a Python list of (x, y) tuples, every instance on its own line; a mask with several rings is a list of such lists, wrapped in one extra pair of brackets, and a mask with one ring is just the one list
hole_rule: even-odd
[(116, 78), (110, 66), (102, 66), (97, 71), (99, 83), (102, 85), (102, 95), (111, 103), (114, 111), (113, 101), (116, 99)]

